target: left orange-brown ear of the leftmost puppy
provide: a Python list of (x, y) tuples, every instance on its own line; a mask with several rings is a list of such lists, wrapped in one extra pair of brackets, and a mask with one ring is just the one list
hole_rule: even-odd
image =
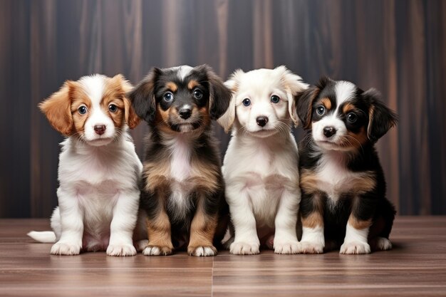
[(67, 80), (60, 90), (38, 104), (38, 108), (46, 116), (51, 126), (64, 136), (73, 134), (71, 88), (76, 88), (76, 83)]

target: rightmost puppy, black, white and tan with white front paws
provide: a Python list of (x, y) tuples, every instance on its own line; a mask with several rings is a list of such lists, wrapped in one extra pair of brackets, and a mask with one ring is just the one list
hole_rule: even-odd
[(391, 249), (395, 209), (375, 142), (396, 124), (395, 113), (376, 90), (329, 78), (299, 95), (297, 111), (307, 131), (299, 143), (301, 252), (341, 244), (341, 254)]

